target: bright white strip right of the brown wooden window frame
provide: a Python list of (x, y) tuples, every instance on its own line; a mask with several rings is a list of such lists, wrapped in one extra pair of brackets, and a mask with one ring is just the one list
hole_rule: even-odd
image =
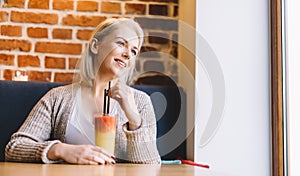
[(287, 64), (288, 64), (288, 134), (289, 134), (289, 175), (300, 175), (300, 2), (286, 1), (287, 22)]

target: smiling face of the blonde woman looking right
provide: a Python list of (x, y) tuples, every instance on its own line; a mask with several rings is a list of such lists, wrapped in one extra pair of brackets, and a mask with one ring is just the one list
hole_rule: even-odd
[(100, 65), (98, 75), (109, 76), (108, 79), (127, 74), (139, 53), (139, 39), (129, 27), (114, 30), (96, 45), (97, 52), (94, 54), (99, 63), (95, 65)]

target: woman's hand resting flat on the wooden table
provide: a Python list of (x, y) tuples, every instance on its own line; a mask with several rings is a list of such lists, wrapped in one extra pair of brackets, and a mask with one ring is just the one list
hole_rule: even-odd
[(54, 144), (47, 153), (50, 160), (62, 159), (73, 164), (115, 164), (114, 156), (93, 145)]

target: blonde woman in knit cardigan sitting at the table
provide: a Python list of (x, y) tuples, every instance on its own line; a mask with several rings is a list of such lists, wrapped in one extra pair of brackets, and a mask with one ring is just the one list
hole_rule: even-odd
[[(150, 97), (126, 83), (133, 74), (143, 31), (131, 19), (108, 19), (91, 37), (80, 81), (50, 90), (6, 146), (7, 161), (76, 164), (160, 163)], [(94, 115), (103, 113), (111, 81), (111, 113), (117, 117), (115, 153), (95, 146)]]

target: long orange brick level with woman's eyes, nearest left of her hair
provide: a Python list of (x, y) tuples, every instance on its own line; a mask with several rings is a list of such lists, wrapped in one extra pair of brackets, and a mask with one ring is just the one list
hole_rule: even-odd
[(35, 45), (35, 52), (57, 54), (81, 54), (81, 44), (37, 42)]

